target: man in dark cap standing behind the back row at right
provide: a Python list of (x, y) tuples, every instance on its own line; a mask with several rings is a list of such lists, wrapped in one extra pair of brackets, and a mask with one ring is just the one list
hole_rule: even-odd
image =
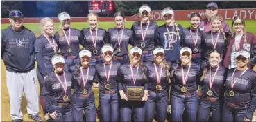
[[(208, 32), (211, 30), (211, 17), (216, 15), (218, 13), (218, 5), (215, 2), (208, 3), (206, 10), (205, 10), (205, 16), (206, 19), (202, 20), (200, 23), (200, 30), (203, 32)], [(231, 34), (230, 27), (228, 26), (228, 23), (225, 21), (222, 23), (223, 32), (227, 32)]]

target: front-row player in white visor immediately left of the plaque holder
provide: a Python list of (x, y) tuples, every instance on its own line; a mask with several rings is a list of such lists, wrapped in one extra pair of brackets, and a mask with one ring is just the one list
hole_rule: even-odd
[(96, 64), (96, 79), (99, 81), (99, 108), (101, 121), (118, 121), (119, 97), (117, 90), (117, 70), (120, 63), (112, 61), (114, 48), (105, 44), (101, 48), (103, 63)]

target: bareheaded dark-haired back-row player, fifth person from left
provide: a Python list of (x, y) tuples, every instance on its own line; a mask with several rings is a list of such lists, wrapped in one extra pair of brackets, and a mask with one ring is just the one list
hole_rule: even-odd
[(133, 46), (133, 32), (125, 28), (125, 21), (123, 12), (116, 12), (114, 14), (114, 22), (117, 27), (108, 29), (108, 40), (114, 48), (113, 61), (121, 64), (128, 63), (128, 45)]

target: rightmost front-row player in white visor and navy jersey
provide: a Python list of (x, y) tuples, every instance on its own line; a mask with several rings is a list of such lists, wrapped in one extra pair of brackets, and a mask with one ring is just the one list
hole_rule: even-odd
[(252, 121), (256, 108), (256, 72), (247, 68), (249, 52), (237, 52), (235, 61), (237, 68), (228, 70), (225, 81), (222, 121)]

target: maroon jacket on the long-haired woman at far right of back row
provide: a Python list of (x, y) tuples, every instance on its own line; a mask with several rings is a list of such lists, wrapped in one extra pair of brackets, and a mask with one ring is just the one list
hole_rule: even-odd
[[(250, 32), (246, 32), (247, 36), (246, 39), (247, 41), (245, 42), (245, 38), (244, 35), (241, 38), (240, 44), (239, 44), (239, 50), (247, 50), (248, 52), (252, 52), (253, 51), (253, 45), (256, 44), (256, 37), (253, 33)], [(224, 61), (223, 61), (223, 66), (225, 68), (228, 68), (228, 65), (230, 65), (230, 58), (231, 58), (231, 52), (232, 52), (232, 46), (234, 45), (234, 41), (235, 41), (235, 36), (234, 34), (232, 34), (229, 38), (228, 38), (228, 45), (225, 51), (225, 57), (224, 57)], [(247, 46), (245, 46), (247, 44)], [(252, 65), (248, 65), (249, 68), (253, 68)]]

